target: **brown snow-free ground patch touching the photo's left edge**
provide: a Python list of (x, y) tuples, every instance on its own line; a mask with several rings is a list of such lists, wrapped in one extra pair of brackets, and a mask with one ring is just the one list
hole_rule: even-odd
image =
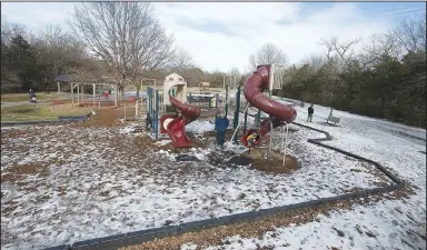
[(14, 164), (1, 173), (1, 182), (12, 182), (18, 183), (19, 180), (22, 180), (24, 176), (34, 176), (40, 173), (41, 176), (49, 174), (49, 168), (44, 163), (28, 163), (28, 164)]

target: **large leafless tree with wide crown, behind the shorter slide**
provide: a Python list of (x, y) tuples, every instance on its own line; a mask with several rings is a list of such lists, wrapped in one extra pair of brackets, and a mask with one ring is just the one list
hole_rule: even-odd
[(149, 2), (85, 2), (72, 17), (69, 23), (75, 33), (115, 72), (120, 93), (126, 84), (171, 58), (173, 39)]

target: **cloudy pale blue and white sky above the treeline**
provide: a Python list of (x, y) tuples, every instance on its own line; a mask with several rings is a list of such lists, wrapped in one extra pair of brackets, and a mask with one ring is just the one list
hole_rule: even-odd
[[(73, 2), (1, 2), (1, 14), (30, 29), (61, 24)], [(155, 11), (177, 46), (203, 70), (248, 69), (248, 58), (267, 42), (290, 62), (321, 53), (321, 39), (366, 38), (426, 12), (426, 2), (156, 2)]]

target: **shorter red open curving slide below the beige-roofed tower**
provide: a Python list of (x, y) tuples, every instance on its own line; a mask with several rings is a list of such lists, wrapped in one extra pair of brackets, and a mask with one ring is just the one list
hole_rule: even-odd
[(199, 118), (201, 110), (197, 107), (182, 103), (170, 94), (169, 101), (181, 111), (181, 116), (169, 122), (166, 130), (168, 131), (170, 139), (172, 139), (173, 147), (189, 148), (191, 147), (191, 141), (187, 137), (185, 128), (186, 124)]

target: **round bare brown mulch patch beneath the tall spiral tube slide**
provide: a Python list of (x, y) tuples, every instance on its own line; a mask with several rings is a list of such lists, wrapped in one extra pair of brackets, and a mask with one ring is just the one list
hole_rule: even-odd
[(297, 158), (287, 154), (284, 166), (284, 154), (271, 150), (271, 159), (265, 159), (266, 149), (251, 149), (242, 153), (242, 157), (254, 160), (252, 167), (259, 171), (274, 172), (274, 173), (290, 173), (298, 169)]

